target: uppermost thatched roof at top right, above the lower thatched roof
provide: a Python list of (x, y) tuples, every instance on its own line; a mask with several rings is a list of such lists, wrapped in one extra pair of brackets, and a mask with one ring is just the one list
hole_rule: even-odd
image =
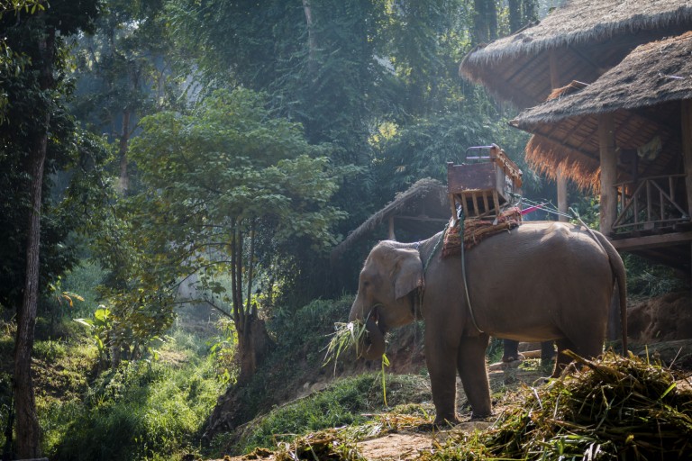
[(530, 107), (551, 93), (551, 54), (558, 86), (591, 83), (637, 45), (688, 30), (689, 0), (567, 0), (541, 23), (470, 52), (460, 74)]

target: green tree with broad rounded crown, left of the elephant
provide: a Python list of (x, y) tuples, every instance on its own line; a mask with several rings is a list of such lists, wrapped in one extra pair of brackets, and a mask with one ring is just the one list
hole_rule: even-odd
[(269, 347), (257, 279), (275, 275), (258, 264), (256, 242), (332, 244), (342, 212), (329, 201), (340, 169), (330, 167), (327, 146), (307, 143), (300, 125), (273, 116), (247, 89), (214, 93), (195, 113), (159, 113), (142, 126), (132, 157), (146, 191), (133, 197), (132, 229), (145, 249), (140, 258), (151, 261), (146, 273), (160, 275), (145, 291), (170, 299), (171, 279), (200, 275), (214, 295), (208, 301), (230, 306), (245, 381)]

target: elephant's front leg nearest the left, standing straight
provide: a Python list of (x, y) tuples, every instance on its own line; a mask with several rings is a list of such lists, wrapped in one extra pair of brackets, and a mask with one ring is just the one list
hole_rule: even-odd
[(425, 335), (425, 362), (430, 373), (435, 424), (457, 423), (457, 345), (439, 335)]

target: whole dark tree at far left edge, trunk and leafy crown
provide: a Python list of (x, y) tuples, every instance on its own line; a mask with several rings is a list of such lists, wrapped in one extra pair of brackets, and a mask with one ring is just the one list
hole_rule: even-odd
[(0, 149), (4, 156), (22, 157), (20, 164), (27, 177), (22, 189), (27, 206), (23, 299), (17, 308), (14, 353), (16, 445), (24, 458), (41, 454), (31, 357), (40, 293), (41, 205), (51, 152), (49, 133), (56, 119), (62, 118), (61, 96), (67, 90), (62, 82), (65, 55), (61, 37), (88, 27), (96, 14), (96, 0), (55, 0), (0, 17), (3, 48), (23, 64), (19, 72), (2, 81), (7, 104)]

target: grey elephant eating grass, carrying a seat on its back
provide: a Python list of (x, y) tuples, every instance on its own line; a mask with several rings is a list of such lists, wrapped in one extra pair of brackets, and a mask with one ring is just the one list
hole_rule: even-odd
[(624, 264), (601, 233), (567, 222), (528, 221), (467, 249), (464, 258), (442, 258), (442, 236), (414, 243), (380, 241), (360, 271), (349, 314), (349, 321), (365, 323), (360, 354), (370, 360), (384, 353), (387, 330), (424, 321), (435, 424), (459, 422), (457, 373), (471, 417), (492, 415), (486, 369), (490, 336), (554, 340), (553, 377), (570, 362), (566, 349), (581, 357), (599, 356), (615, 286), (626, 350)]

